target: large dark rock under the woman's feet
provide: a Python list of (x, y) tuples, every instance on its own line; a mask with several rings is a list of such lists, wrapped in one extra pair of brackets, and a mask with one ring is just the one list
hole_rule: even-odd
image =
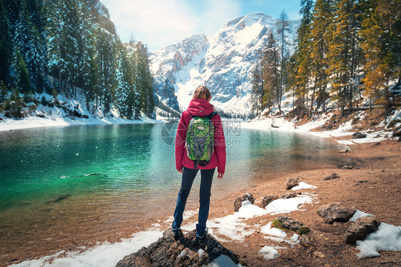
[[(143, 266), (207, 266), (220, 255), (230, 257), (238, 263), (238, 256), (229, 251), (210, 235), (199, 245), (194, 243), (196, 231), (191, 231), (174, 240), (171, 228), (163, 233), (163, 237), (151, 243), (148, 248), (141, 248), (136, 253), (125, 256), (118, 261), (116, 267), (143, 267)], [(199, 256), (198, 251), (204, 252)]]

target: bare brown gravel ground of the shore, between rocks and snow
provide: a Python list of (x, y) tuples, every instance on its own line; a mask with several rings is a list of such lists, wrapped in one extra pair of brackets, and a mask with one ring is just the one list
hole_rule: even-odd
[[(348, 137), (344, 137), (350, 138)], [(245, 238), (244, 242), (223, 243), (223, 246), (232, 250), (241, 259), (245, 266), (401, 266), (401, 252), (380, 252), (377, 258), (358, 259), (355, 246), (346, 244), (343, 238), (350, 223), (323, 223), (318, 216), (318, 208), (327, 203), (341, 202), (345, 206), (355, 206), (360, 211), (374, 214), (381, 222), (395, 226), (401, 225), (401, 142), (397, 140), (380, 141), (379, 143), (364, 143), (350, 146), (345, 156), (353, 159), (357, 168), (342, 170), (341, 168), (321, 168), (313, 171), (299, 171), (287, 176), (273, 178), (272, 180), (251, 186), (242, 191), (231, 193), (223, 198), (212, 196), (210, 203), (210, 219), (220, 218), (234, 213), (234, 200), (243, 193), (253, 193), (258, 204), (265, 195), (282, 196), (286, 193), (285, 182), (288, 177), (301, 178), (305, 183), (317, 186), (305, 192), (318, 194), (318, 203), (305, 204), (305, 211), (293, 211), (286, 216), (298, 219), (309, 226), (311, 232), (308, 236), (312, 246), (305, 247), (300, 244), (294, 248), (279, 250), (280, 256), (275, 260), (265, 260), (258, 254), (263, 246), (283, 246), (278, 242), (263, 238), (263, 234), (255, 231)], [(340, 178), (324, 181), (323, 178), (330, 173), (337, 173)], [(363, 182), (360, 182), (363, 181)], [(360, 182), (360, 183), (358, 183)], [(253, 224), (265, 225), (273, 221), (278, 215), (266, 215), (245, 221), (248, 226)], [(194, 220), (196, 216), (190, 220)], [(146, 230), (152, 223), (160, 223), (161, 228), (170, 227), (166, 217), (150, 218), (142, 225), (128, 226), (116, 229), (112, 236), (97, 237), (97, 241), (119, 241), (128, 238), (133, 232)], [(191, 221), (187, 221), (190, 223)], [(118, 231), (117, 231), (118, 230)], [(1, 266), (18, 263), (26, 259), (39, 258), (56, 253), (57, 251), (77, 251), (80, 246), (86, 248), (95, 246), (93, 238), (81, 240), (76, 243), (60, 243), (60, 246), (44, 248), (31, 253), (17, 252), (4, 258)], [(10, 258), (11, 257), (11, 258)], [(18, 258), (16, 258), (18, 257)]]

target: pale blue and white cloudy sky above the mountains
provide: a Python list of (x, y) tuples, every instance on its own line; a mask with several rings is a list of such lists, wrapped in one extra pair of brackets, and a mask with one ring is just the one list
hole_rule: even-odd
[[(101, 0), (122, 41), (133, 37), (155, 51), (192, 34), (208, 39), (226, 24), (246, 14), (263, 12), (300, 19), (300, 0)], [(131, 37), (132, 36), (132, 37)]]

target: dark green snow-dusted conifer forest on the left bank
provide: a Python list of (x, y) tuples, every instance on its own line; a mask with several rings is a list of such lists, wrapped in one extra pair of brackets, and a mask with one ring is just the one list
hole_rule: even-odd
[(79, 94), (88, 111), (105, 116), (112, 105), (124, 118), (154, 116), (146, 46), (104, 29), (96, 4), (0, 0), (0, 100), (9, 116), (23, 116), (21, 105), (45, 92)]

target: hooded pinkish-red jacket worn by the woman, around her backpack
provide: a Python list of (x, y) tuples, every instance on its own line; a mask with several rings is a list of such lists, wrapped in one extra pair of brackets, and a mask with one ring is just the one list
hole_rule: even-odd
[[(181, 115), (180, 124), (178, 124), (178, 130), (176, 135), (176, 168), (177, 170), (181, 170), (183, 166), (186, 168), (194, 168), (193, 160), (188, 158), (185, 142), (186, 142), (186, 132), (188, 129), (189, 121), (191, 121), (192, 116), (188, 113), (188, 111), (193, 115), (198, 115), (199, 111), (203, 112), (199, 113), (199, 116), (206, 116), (213, 112), (213, 108), (210, 105), (209, 101), (206, 99), (192, 99), (188, 110), (184, 111)], [(215, 147), (213, 149), (212, 158), (210, 158), (210, 162), (205, 167), (199, 166), (197, 168), (200, 169), (209, 169), (217, 167), (218, 173), (225, 172), (225, 138), (223, 132), (223, 125), (221, 124), (220, 115), (215, 114), (212, 119), (214, 126), (214, 143)]]

